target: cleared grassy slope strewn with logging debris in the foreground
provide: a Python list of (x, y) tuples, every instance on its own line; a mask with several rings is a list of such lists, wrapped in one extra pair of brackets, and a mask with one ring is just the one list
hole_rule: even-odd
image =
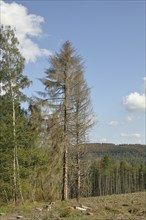
[[(101, 196), (93, 198), (82, 198), (67, 202), (56, 201), (49, 210), (45, 209), (47, 203), (36, 203), (19, 205), (15, 207), (1, 207), (1, 220), (15, 220), (19, 218), (27, 220), (144, 220), (145, 192)], [(74, 209), (74, 207), (85, 207), (86, 211)], [(3, 214), (2, 214), (3, 212)]]

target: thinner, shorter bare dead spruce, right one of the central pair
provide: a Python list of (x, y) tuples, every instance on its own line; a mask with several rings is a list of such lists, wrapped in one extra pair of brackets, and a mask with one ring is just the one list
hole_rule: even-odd
[[(80, 62), (81, 63), (81, 62)], [(90, 101), (90, 90), (84, 79), (83, 65), (76, 69), (74, 88), (73, 88), (73, 120), (72, 120), (72, 137), (75, 147), (76, 158), (76, 198), (80, 198), (81, 188), (81, 164), (83, 156), (82, 145), (87, 142), (88, 132), (94, 125), (94, 114)]]

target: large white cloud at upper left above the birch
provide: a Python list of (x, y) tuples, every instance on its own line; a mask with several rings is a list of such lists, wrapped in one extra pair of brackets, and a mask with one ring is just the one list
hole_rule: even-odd
[(20, 43), (20, 51), (26, 62), (35, 62), (38, 57), (49, 56), (51, 52), (41, 49), (33, 42), (32, 37), (39, 37), (42, 33), (41, 24), (44, 18), (29, 14), (26, 7), (16, 2), (0, 2), (1, 24), (10, 25), (16, 29), (16, 36)]

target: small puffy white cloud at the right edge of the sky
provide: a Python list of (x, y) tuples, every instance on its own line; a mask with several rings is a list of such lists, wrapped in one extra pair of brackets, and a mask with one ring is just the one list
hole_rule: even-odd
[(145, 94), (133, 92), (123, 98), (122, 104), (128, 111), (145, 111), (146, 96)]

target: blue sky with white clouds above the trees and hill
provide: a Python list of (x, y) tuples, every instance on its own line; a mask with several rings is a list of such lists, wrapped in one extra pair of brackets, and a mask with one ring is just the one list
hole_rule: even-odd
[(15, 26), (33, 81), (43, 90), (49, 54), (69, 40), (85, 60), (98, 123), (91, 142), (145, 143), (145, 1), (3, 1), (1, 23)]

